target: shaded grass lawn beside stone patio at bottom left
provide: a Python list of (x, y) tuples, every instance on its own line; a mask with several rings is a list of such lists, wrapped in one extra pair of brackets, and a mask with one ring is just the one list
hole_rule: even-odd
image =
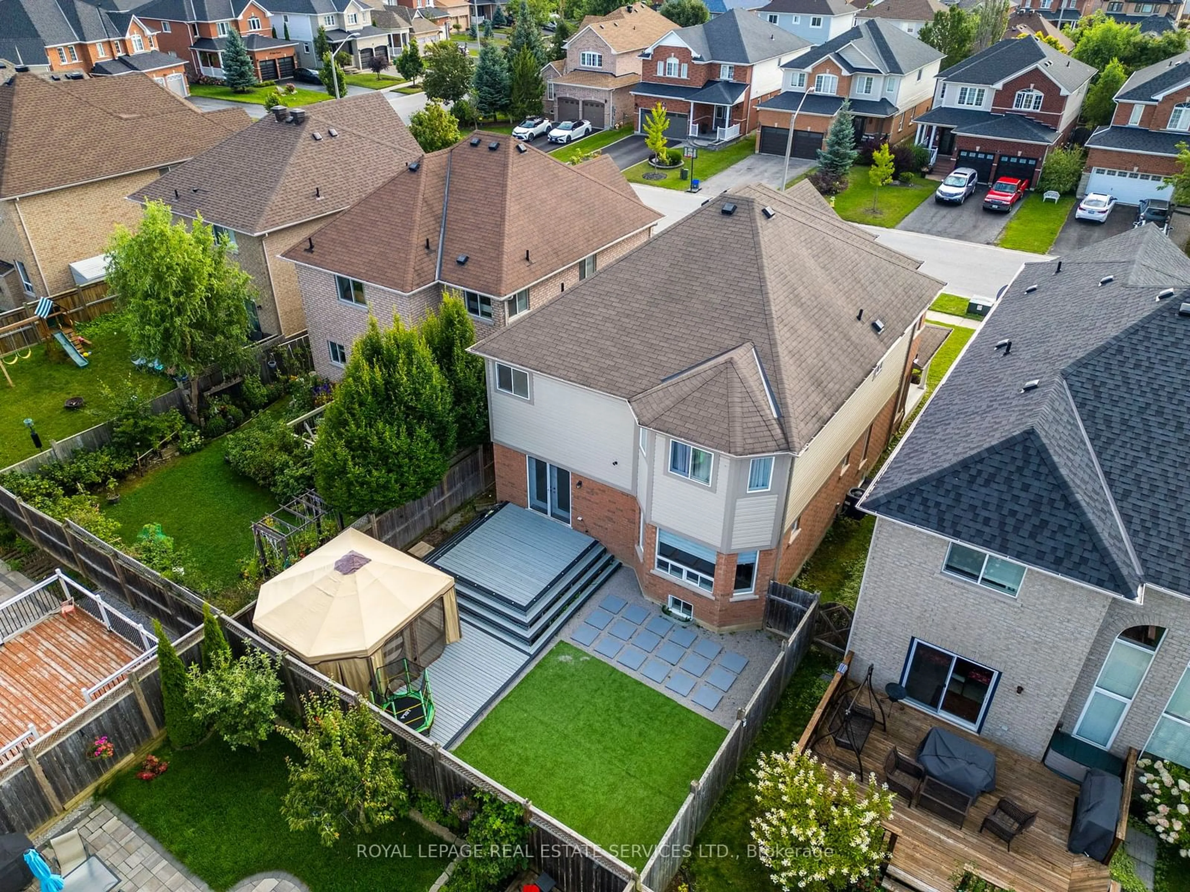
[[(196, 749), (157, 755), (169, 762), (164, 774), (145, 783), (130, 768), (104, 794), (217, 891), (253, 873), (284, 871), (311, 892), (425, 892), (446, 866), (419, 856), (419, 847), (428, 853), (441, 840), (408, 818), (332, 848), (313, 830), (289, 830), (281, 816), (289, 789), (284, 758), (298, 750), (280, 735), (259, 752), (232, 752), (212, 737)], [(362, 858), (357, 844), (401, 846), (407, 856)]]

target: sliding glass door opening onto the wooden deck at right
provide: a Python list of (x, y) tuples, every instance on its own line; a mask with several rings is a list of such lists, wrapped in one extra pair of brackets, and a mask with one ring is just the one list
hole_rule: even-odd
[(996, 670), (914, 639), (901, 684), (922, 709), (979, 730), (998, 678)]

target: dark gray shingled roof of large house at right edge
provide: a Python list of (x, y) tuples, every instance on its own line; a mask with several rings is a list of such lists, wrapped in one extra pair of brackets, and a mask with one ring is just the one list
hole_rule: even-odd
[(1058, 264), (1025, 266), (863, 507), (1123, 597), (1190, 593), (1190, 259), (1146, 226)]

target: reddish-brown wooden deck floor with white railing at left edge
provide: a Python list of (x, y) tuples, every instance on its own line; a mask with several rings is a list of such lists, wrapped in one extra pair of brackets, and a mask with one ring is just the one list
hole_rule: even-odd
[(30, 723), (44, 734), (83, 705), (94, 685), (140, 653), (86, 610), (51, 614), (0, 646), (0, 743)]

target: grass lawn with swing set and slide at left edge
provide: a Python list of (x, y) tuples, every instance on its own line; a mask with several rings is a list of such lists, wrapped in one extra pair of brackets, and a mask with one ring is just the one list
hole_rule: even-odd
[[(105, 383), (114, 388), (131, 375), (148, 395), (157, 396), (174, 389), (174, 382), (164, 375), (138, 371), (132, 365), (124, 332), (105, 331), (90, 340), (90, 347), (84, 347), (90, 351), (84, 369), (69, 359), (51, 363), (45, 357), (44, 344), (31, 347), (27, 359), (13, 362), (25, 356), (24, 350), (5, 359), (13, 387), (10, 388), (0, 375), (0, 467), (38, 452), (25, 428), (25, 419), (33, 420), (42, 435), (42, 446), (48, 450), (51, 439), (62, 440), (107, 420), (102, 396)], [(87, 401), (86, 407), (75, 412), (63, 409), (62, 403), (71, 396), (81, 396)]]

